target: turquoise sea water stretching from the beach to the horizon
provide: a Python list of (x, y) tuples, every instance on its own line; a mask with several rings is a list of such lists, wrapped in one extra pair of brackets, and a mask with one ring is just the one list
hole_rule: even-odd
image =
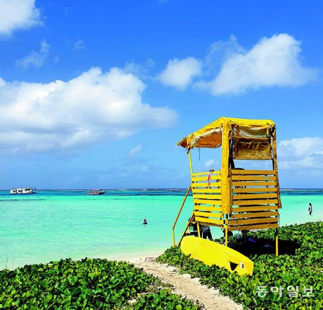
[[(0, 269), (71, 257), (129, 259), (156, 255), (172, 245), (171, 228), (185, 190), (0, 191)], [(323, 190), (283, 190), (280, 223), (323, 220)], [(313, 205), (309, 216), (308, 203)], [(175, 231), (190, 216), (188, 197)], [(148, 225), (142, 225), (147, 218)], [(221, 236), (211, 228), (213, 237)]]

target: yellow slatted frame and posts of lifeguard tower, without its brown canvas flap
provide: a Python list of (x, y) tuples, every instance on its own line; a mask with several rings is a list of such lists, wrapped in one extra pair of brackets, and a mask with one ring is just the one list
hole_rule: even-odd
[[(266, 128), (267, 133), (271, 130), (270, 145), (273, 170), (236, 170), (231, 168), (229, 162), (230, 155), (232, 156), (230, 143), (234, 126)], [(212, 131), (212, 128), (214, 129), (214, 135), (218, 135), (217, 143), (220, 141), (219, 135), (222, 135), (221, 144), (210, 144), (211, 140), (208, 133)], [(204, 146), (203, 135), (208, 139), (207, 146)], [(278, 181), (275, 123), (271, 120), (221, 117), (201, 130), (187, 136), (178, 144), (188, 149), (191, 185), (172, 228), (173, 244), (175, 245), (174, 227), (188, 193), (192, 189), (194, 210), (182, 238), (193, 218), (197, 223), (198, 237), (201, 237), (200, 225), (217, 226), (225, 229), (226, 246), (228, 246), (228, 231), (276, 228), (275, 243), (276, 255), (278, 255), (278, 209), (281, 208), (281, 200)], [(193, 173), (190, 151), (194, 144), (197, 147), (213, 148), (222, 145), (221, 170), (212, 172), (210, 183), (205, 182), (208, 172)]]

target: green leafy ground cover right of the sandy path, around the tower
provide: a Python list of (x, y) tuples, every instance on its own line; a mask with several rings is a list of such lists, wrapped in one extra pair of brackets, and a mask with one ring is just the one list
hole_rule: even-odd
[[(250, 233), (260, 243), (274, 244), (274, 229)], [(253, 275), (239, 276), (236, 272), (207, 266), (185, 256), (178, 246), (171, 247), (157, 261), (180, 267), (182, 273), (199, 277), (200, 282), (219, 288), (236, 302), (250, 309), (322, 309), (323, 308), (323, 222), (309, 222), (280, 228), (280, 252), (273, 254), (252, 254)], [(258, 286), (268, 292), (258, 294)], [(289, 296), (292, 288), (298, 286), (296, 296)], [(274, 288), (273, 288), (274, 287)], [(282, 293), (273, 292), (282, 288)], [(312, 297), (305, 297), (303, 289), (312, 287)], [(309, 291), (308, 291), (309, 292)], [(310, 292), (309, 292), (310, 294)]]

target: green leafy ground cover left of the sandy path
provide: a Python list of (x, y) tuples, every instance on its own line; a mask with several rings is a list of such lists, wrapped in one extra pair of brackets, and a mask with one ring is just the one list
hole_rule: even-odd
[(67, 259), (0, 271), (0, 308), (113, 309), (138, 297), (129, 308), (198, 309), (162, 288), (155, 277), (126, 262)]

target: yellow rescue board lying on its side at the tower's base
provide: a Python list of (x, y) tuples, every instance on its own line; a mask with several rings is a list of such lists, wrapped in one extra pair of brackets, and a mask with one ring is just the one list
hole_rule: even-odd
[(202, 261), (208, 266), (224, 267), (230, 272), (236, 271), (240, 276), (243, 274), (252, 275), (253, 262), (241, 253), (220, 243), (186, 236), (181, 242), (181, 250), (185, 255), (190, 255), (191, 258)]

